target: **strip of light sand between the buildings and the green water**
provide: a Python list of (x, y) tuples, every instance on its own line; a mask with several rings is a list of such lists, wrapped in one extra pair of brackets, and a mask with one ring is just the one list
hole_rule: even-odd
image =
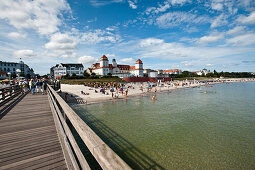
[[(133, 84), (133, 88), (129, 89), (128, 95), (121, 95), (119, 92), (118, 98), (112, 98), (111, 92), (109, 89), (106, 90), (108, 95), (102, 94), (100, 92), (95, 93), (95, 90), (99, 90), (98, 88), (91, 88), (84, 85), (69, 85), (69, 84), (61, 84), (61, 96), (64, 98), (65, 93), (68, 93), (67, 97), (67, 103), (68, 104), (96, 104), (96, 103), (102, 103), (102, 102), (115, 102), (119, 100), (127, 100), (134, 97), (143, 97), (143, 96), (149, 96), (153, 93), (155, 93), (155, 88), (157, 89), (158, 93), (165, 93), (165, 92), (171, 92), (176, 89), (185, 89), (185, 88), (198, 88), (200, 86), (211, 86), (215, 84), (222, 84), (222, 83), (234, 83), (234, 82), (249, 82), (249, 81), (255, 81), (255, 79), (227, 79), (224, 82), (217, 81), (217, 82), (208, 82), (208, 83), (195, 83), (195, 84), (189, 84), (184, 86), (166, 86), (165, 83), (163, 83), (163, 87), (156, 86), (152, 87), (151, 91), (144, 92), (141, 91), (139, 87), (142, 86), (141, 83)], [(145, 84), (145, 83), (144, 83)], [(143, 85), (144, 86), (144, 85)], [(146, 89), (146, 87), (144, 87)], [(89, 93), (89, 95), (83, 95), (81, 94), (81, 91), (84, 91), (86, 93)], [(80, 101), (80, 102), (79, 102)]]

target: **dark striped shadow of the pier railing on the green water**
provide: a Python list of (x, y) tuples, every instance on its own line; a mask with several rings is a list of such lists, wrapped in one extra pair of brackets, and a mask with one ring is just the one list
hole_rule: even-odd
[(132, 169), (165, 169), (85, 109), (77, 114)]

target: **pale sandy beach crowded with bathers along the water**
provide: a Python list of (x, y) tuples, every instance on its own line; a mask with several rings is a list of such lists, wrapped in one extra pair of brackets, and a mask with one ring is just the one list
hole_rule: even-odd
[[(61, 91), (62, 95), (64, 96), (67, 94), (67, 102), (70, 102), (70, 99), (79, 99), (83, 100), (82, 103), (91, 104), (91, 103), (98, 103), (103, 101), (110, 101), (110, 100), (119, 100), (125, 99), (135, 96), (145, 96), (145, 95), (153, 95), (155, 93), (155, 89), (157, 93), (161, 93), (164, 91), (171, 91), (174, 89), (182, 89), (182, 88), (195, 88), (199, 86), (211, 86), (218, 83), (223, 82), (240, 82), (240, 81), (254, 81), (254, 79), (227, 79), (224, 81), (215, 81), (215, 82), (208, 82), (208, 83), (201, 83), (198, 81), (183, 81), (185, 85), (178, 85), (174, 82), (165, 82), (165, 83), (150, 83), (151, 87), (148, 90), (148, 83), (126, 83), (124, 87), (124, 92), (118, 92), (116, 89), (113, 92), (114, 97), (112, 97), (112, 92), (110, 92), (110, 88), (105, 90), (105, 94), (100, 92), (101, 88), (94, 88), (88, 87), (84, 85), (69, 85), (69, 84), (61, 84)], [(129, 87), (129, 88), (127, 88)], [(125, 94), (126, 89), (128, 89), (128, 94)], [(96, 92), (97, 91), (97, 92)], [(68, 101), (69, 100), (69, 101)]]

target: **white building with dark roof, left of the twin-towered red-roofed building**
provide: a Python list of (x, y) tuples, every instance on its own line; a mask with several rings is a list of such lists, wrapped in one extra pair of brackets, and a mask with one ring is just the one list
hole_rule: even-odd
[(56, 66), (51, 68), (51, 76), (53, 78), (61, 78), (65, 75), (72, 76), (76, 74), (77, 76), (82, 76), (84, 73), (84, 67), (82, 64), (57, 64)]

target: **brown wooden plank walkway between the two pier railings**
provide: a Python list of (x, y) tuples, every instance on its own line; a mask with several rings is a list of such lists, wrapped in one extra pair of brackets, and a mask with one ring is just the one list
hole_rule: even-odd
[(0, 120), (0, 169), (67, 169), (47, 95), (26, 95)]

